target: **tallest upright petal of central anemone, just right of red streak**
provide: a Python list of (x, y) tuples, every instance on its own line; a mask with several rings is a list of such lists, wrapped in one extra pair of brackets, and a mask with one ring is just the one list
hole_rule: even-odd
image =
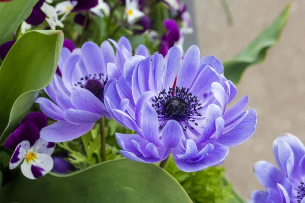
[(177, 75), (178, 87), (190, 88), (192, 86), (199, 67), (199, 60), (199, 48), (196, 45), (193, 45), (188, 49), (184, 58), (182, 59)]

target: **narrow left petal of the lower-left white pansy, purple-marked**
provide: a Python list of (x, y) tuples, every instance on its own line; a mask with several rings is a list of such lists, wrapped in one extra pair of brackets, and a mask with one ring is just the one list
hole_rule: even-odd
[(21, 143), (19, 143), (12, 155), (12, 158), (10, 160), (10, 170), (16, 168), (21, 161), (24, 159), (25, 154), (27, 153), (27, 151), (29, 150), (29, 142), (27, 140), (22, 141)]

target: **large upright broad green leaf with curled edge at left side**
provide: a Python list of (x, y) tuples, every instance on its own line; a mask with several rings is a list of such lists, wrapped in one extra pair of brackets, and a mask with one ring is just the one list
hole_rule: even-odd
[(62, 31), (29, 31), (9, 51), (0, 67), (0, 144), (51, 82), (63, 41)]

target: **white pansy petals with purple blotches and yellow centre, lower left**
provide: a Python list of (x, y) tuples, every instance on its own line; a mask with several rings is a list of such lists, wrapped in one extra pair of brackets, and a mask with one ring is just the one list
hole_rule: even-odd
[(53, 168), (51, 157), (55, 149), (55, 143), (49, 143), (39, 138), (33, 147), (27, 140), (19, 143), (10, 160), (10, 170), (20, 163), (21, 172), (28, 179), (37, 179), (49, 173)]

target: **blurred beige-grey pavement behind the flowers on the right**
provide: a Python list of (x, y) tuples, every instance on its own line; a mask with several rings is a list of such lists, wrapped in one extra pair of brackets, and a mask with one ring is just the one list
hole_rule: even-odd
[[(231, 148), (223, 164), (227, 176), (241, 196), (261, 189), (252, 173), (259, 160), (275, 163), (272, 142), (284, 132), (292, 132), (305, 143), (305, 1), (227, 0), (234, 24), (228, 26), (219, 0), (185, 2), (194, 11), (197, 45), (201, 55), (215, 55), (225, 61), (246, 47), (291, 3), (287, 26), (267, 59), (252, 66), (237, 86), (240, 98), (249, 95), (250, 108), (258, 114), (257, 131), (246, 143)], [(194, 43), (189, 37), (186, 46)]]

